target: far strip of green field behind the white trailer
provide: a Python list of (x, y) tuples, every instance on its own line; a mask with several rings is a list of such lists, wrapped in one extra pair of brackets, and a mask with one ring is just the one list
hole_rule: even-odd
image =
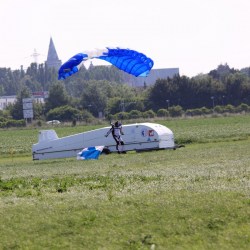
[[(244, 140), (250, 137), (250, 115), (159, 120), (156, 122), (169, 127), (174, 132), (176, 143), (179, 144)], [(38, 131), (41, 129), (55, 129), (58, 136), (63, 137), (100, 127), (103, 125), (0, 130), (0, 157), (30, 155), (31, 146), (37, 143)]]

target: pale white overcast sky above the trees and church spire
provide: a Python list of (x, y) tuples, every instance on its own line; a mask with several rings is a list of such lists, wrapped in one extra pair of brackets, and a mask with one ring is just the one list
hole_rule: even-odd
[(188, 77), (241, 69), (250, 67), (249, 13), (249, 0), (0, 0), (0, 68), (44, 63), (52, 37), (62, 62), (122, 47)]

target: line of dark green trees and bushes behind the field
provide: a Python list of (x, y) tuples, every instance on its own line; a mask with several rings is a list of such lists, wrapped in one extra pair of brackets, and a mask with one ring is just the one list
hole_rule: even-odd
[(250, 105), (250, 68), (219, 65), (208, 74), (157, 79), (143, 88), (128, 86), (113, 66), (82, 66), (64, 81), (58, 81), (56, 70), (43, 64), (32, 63), (27, 70), (0, 68), (0, 96), (17, 95), (17, 102), (7, 107), (5, 116), (22, 119), (22, 98), (45, 90), (49, 91), (45, 103), (34, 103), (35, 119), (110, 117), (131, 111), (157, 114), (174, 107), (214, 111), (216, 106)]

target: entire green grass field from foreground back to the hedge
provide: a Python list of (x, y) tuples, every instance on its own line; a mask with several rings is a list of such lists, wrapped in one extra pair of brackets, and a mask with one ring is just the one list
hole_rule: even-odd
[(186, 146), (33, 162), (0, 130), (0, 249), (249, 249), (250, 116), (157, 122)]

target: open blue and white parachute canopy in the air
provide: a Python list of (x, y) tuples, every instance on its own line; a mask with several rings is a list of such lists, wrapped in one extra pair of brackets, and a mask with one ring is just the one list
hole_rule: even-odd
[(111, 63), (118, 69), (136, 77), (148, 76), (154, 66), (151, 58), (131, 49), (106, 48), (91, 52), (78, 53), (65, 62), (58, 71), (58, 79), (66, 79), (78, 72), (81, 64), (88, 59), (101, 59)]

